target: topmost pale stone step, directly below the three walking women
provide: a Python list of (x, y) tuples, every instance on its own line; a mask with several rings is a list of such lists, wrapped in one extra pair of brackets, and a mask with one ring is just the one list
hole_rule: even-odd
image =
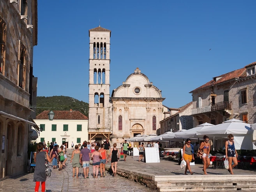
[(152, 180), (154, 181), (247, 181), (247, 180), (255, 180), (256, 176), (254, 175), (169, 175), (169, 176), (153, 176)]

